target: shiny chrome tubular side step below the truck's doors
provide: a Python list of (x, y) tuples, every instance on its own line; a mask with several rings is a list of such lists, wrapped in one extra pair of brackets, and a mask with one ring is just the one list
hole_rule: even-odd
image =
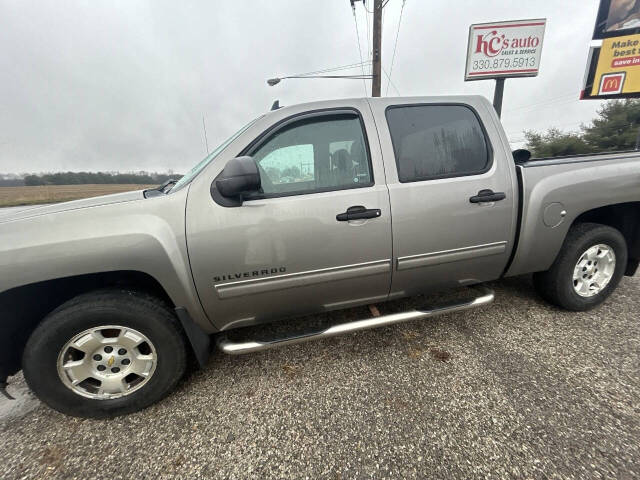
[(443, 305), (434, 306), (432, 308), (411, 310), (408, 312), (394, 313), (391, 315), (383, 315), (380, 317), (372, 317), (364, 320), (356, 320), (355, 322), (334, 325), (320, 332), (296, 335), (270, 341), (248, 341), (248, 342), (232, 342), (226, 336), (220, 336), (217, 345), (220, 350), (229, 355), (242, 355), (243, 353), (259, 352), (270, 348), (283, 347), (285, 345), (294, 345), (296, 343), (307, 342), (309, 340), (319, 340), (321, 338), (334, 337), (343, 333), (356, 332), (358, 330), (368, 330), (370, 328), (384, 327), (395, 323), (408, 322), (411, 320), (421, 320), (424, 318), (435, 317), (444, 313), (460, 312), (476, 307), (481, 307), (493, 302), (495, 297), (493, 290), (484, 286), (473, 287), (478, 291), (478, 295), (462, 301), (451, 302)]

